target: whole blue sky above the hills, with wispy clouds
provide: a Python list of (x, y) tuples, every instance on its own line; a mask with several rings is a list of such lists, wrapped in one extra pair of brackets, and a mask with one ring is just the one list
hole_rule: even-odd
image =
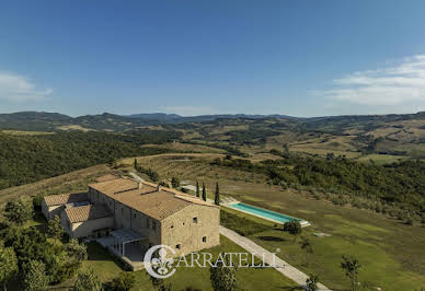
[(0, 113), (425, 110), (425, 1), (2, 1)]

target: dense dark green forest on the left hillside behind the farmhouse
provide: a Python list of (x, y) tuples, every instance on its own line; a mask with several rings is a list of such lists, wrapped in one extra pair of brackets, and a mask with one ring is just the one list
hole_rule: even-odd
[[(153, 135), (153, 133), (152, 133)], [(48, 136), (0, 133), (0, 189), (33, 183), (115, 159), (159, 154), (140, 147), (152, 139), (107, 132), (58, 132)]]

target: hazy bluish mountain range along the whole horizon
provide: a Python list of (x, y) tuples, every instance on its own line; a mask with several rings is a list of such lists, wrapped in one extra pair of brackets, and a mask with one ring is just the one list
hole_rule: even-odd
[(84, 115), (70, 117), (59, 113), (45, 112), (20, 112), (12, 114), (0, 114), (0, 129), (15, 130), (106, 130), (126, 131), (143, 126), (158, 126), (185, 123), (214, 123), (216, 120), (232, 119), (280, 119), (279, 123), (290, 121), (297, 124), (302, 130), (325, 130), (342, 131), (347, 126), (358, 128), (371, 128), (377, 123), (391, 123), (410, 119), (425, 119), (425, 112), (416, 114), (389, 114), (389, 115), (347, 115), (347, 116), (324, 116), (301, 118), (287, 115), (250, 115), (250, 114), (221, 114), (180, 116), (165, 113), (134, 114), (128, 116), (103, 113), (97, 115)]

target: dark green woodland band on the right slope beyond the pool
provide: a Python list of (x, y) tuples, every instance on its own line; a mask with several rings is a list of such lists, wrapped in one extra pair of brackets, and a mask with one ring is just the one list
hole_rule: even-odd
[(282, 156), (260, 163), (227, 156), (211, 164), (262, 173), (269, 184), (306, 189), (337, 205), (351, 203), (406, 221), (425, 219), (425, 162), (377, 165), (333, 155), (324, 159), (283, 152)]

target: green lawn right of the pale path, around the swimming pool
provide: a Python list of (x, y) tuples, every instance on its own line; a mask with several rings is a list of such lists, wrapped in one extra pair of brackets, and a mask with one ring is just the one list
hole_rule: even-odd
[[(370, 290), (372, 287), (380, 287), (383, 290), (414, 290), (425, 286), (424, 275), (406, 269), (405, 266), (412, 263), (411, 258), (404, 257), (405, 261), (401, 261), (389, 252), (400, 244), (392, 245), (391, 242), (394, 241), (390, 241), (389, 237), (400, 235), (405, 230), (399, 230), (399, 234), (395, 234), (394, 230), (346, 220), (337, 214), (323, 214), (321, 218), (323, 226), (313, 225), (302, 229), (301, 236), (308, 237), (313, 247), (313, 255), (309, 257), (297, 243), (300, 237), (296, 238), (284, 232), (280, 225), (231, 209), (226, 208), (223, 211), (245, 219), (243, 230), (260, 229), (259, 224), (267, 226), (266, 231), (246, 236), (271, 252), (280, 248), (280, 253), (277, 254), (279, 257), (306, 273), (317, 273), (321, 281), (332, 289), (348, 288), (348, 280), (340, 268), (343, 255), (354, 255), (364, 266), (360, 273), (363, 290)], [(369, 218), (374, 219), (372, 216)], [(253, 226), (250, 228), (249, 224)], [(400, 228), (407, 226), (400, 225)], [(331, 236), (317, 237), (313, 235), (315, 232), (325, 232)], [(410, 247), (405, 247), (406, 253), (423, 254), (421, 238), (412, 238), (410, 242)], [(415, 263), (423, 264), (421, 260), (423, 258)]]

